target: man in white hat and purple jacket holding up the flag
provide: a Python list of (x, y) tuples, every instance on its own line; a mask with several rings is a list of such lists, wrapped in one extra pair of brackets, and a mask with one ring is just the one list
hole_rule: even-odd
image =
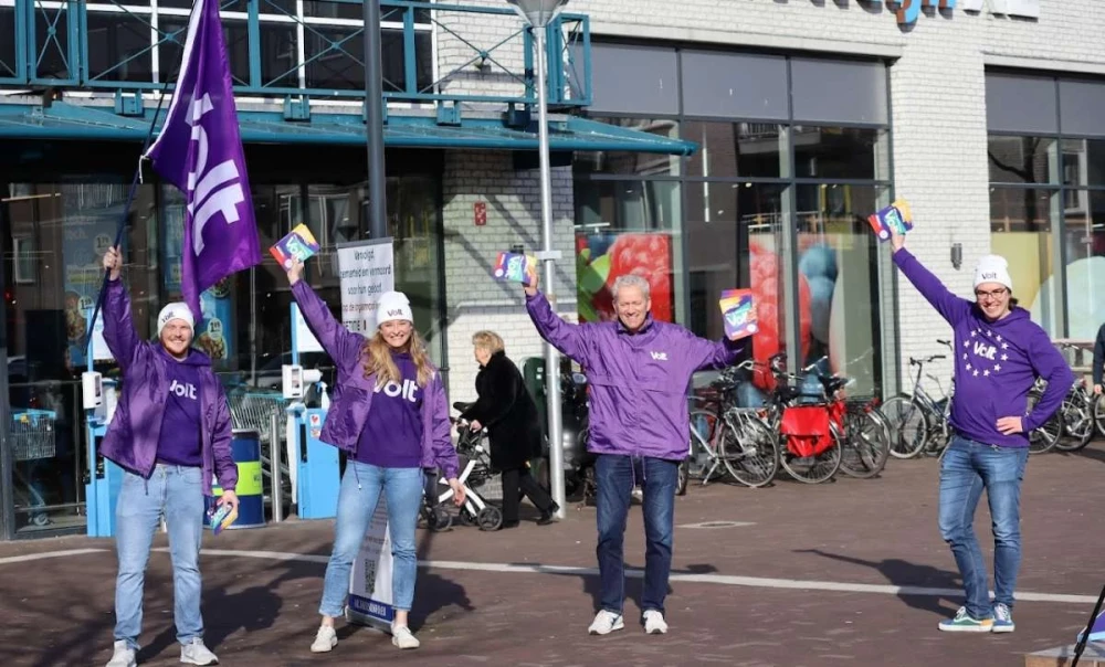
[(99, 446), (124, 470), (116, 507), (115, 653), (107, 667), (134, 667), (141, 634), (143, 587), (150, 544), (160, 520), (169, 529), (173, 616), (180, 661), (212, 665), (200, 615), (200, 540), (203, 496), (215, 475), (219, 505), (238, 509), (238, 466), (222, 384), (211, 360), (191, 349), (192, 314), (169, 304), (157, 318), (158, 343), (138, 339), (117, 247), (104, 254), (109, 272), (104, 339), (123, 371), (123, 395)]

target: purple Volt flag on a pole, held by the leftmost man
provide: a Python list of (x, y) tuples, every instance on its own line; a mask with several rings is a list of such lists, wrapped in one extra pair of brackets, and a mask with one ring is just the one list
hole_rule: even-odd
[(204, 289), (261, 263), (219, 0), (192, 7), (177, 88), (146, 156), (185, 193), (180, 290), (199, 322)]

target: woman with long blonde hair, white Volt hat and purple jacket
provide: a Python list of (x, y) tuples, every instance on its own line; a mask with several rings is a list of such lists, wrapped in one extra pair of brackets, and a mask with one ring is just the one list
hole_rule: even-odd
[(453, 501), (464, 504), (441, 373), (414, 330), (410, 303), (402, 293), (380, 296), (379, 330), (365, 338), (341, 326), (302, 277), (303, 264), (294, 261), (287, 272), (292, 295), (337, 367), (333, 403), (319, 440), (348, 456), (338, 491), (334, 551), (318, 607), (323, 621), (311, 650), (327, 653), (338, 644), (334, 620), (345, 608), (352, 561), (365, 542), (381, 494), (388, 501), (394, 558), (391, 643), (399, 648), (418, 648), (408, 614), (418, 573), (414, 528), (422, 504), (422, 469), (441, 468), (453, 489)]

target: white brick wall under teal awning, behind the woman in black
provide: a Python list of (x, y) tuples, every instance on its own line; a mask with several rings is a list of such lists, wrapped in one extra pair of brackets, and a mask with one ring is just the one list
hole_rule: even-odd
[[(477, 369), (472, 335), (491, 329), (503, 337), (518, 368), (541, 354), (541, 340), (526, 315), (522, 288), (491, 277), (496, 255), (522, 244), (541, 247), (538, 170), (515, 171), (507, 151), (450, 151), (444, 173), (445, 292), (449, 308), (449, 396), (475, 399)], [(473, 205), (487, 204), (487, 224), (476, 226)], [(576, 260), (572, 230), (571, 170), (552, 170), (554, 244), (564, 253), (557, 263), (559, 310), (575, 317)], [(543, 286), (544, 288), (544, 286)]]

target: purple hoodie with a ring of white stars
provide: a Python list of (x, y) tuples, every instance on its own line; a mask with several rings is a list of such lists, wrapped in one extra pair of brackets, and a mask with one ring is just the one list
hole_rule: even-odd
[[(951, 325), (956, 351), (951, 425), (977, 442), (1029, 446), (1028, 432), (1051, 417), (1074, 383), (1074, 373), (1048, 334), (1023, 308), (988, 320), (974, 301), (951, 294), (905, 248), (894, 253), (894, 263)], [(1028, 393), (1036, 378), (1046, 380), (1048, 389), (1029, 413)], [(997, 422), (1004, 416), (1021, 416), (1024, 433), (1002, 435)]]

